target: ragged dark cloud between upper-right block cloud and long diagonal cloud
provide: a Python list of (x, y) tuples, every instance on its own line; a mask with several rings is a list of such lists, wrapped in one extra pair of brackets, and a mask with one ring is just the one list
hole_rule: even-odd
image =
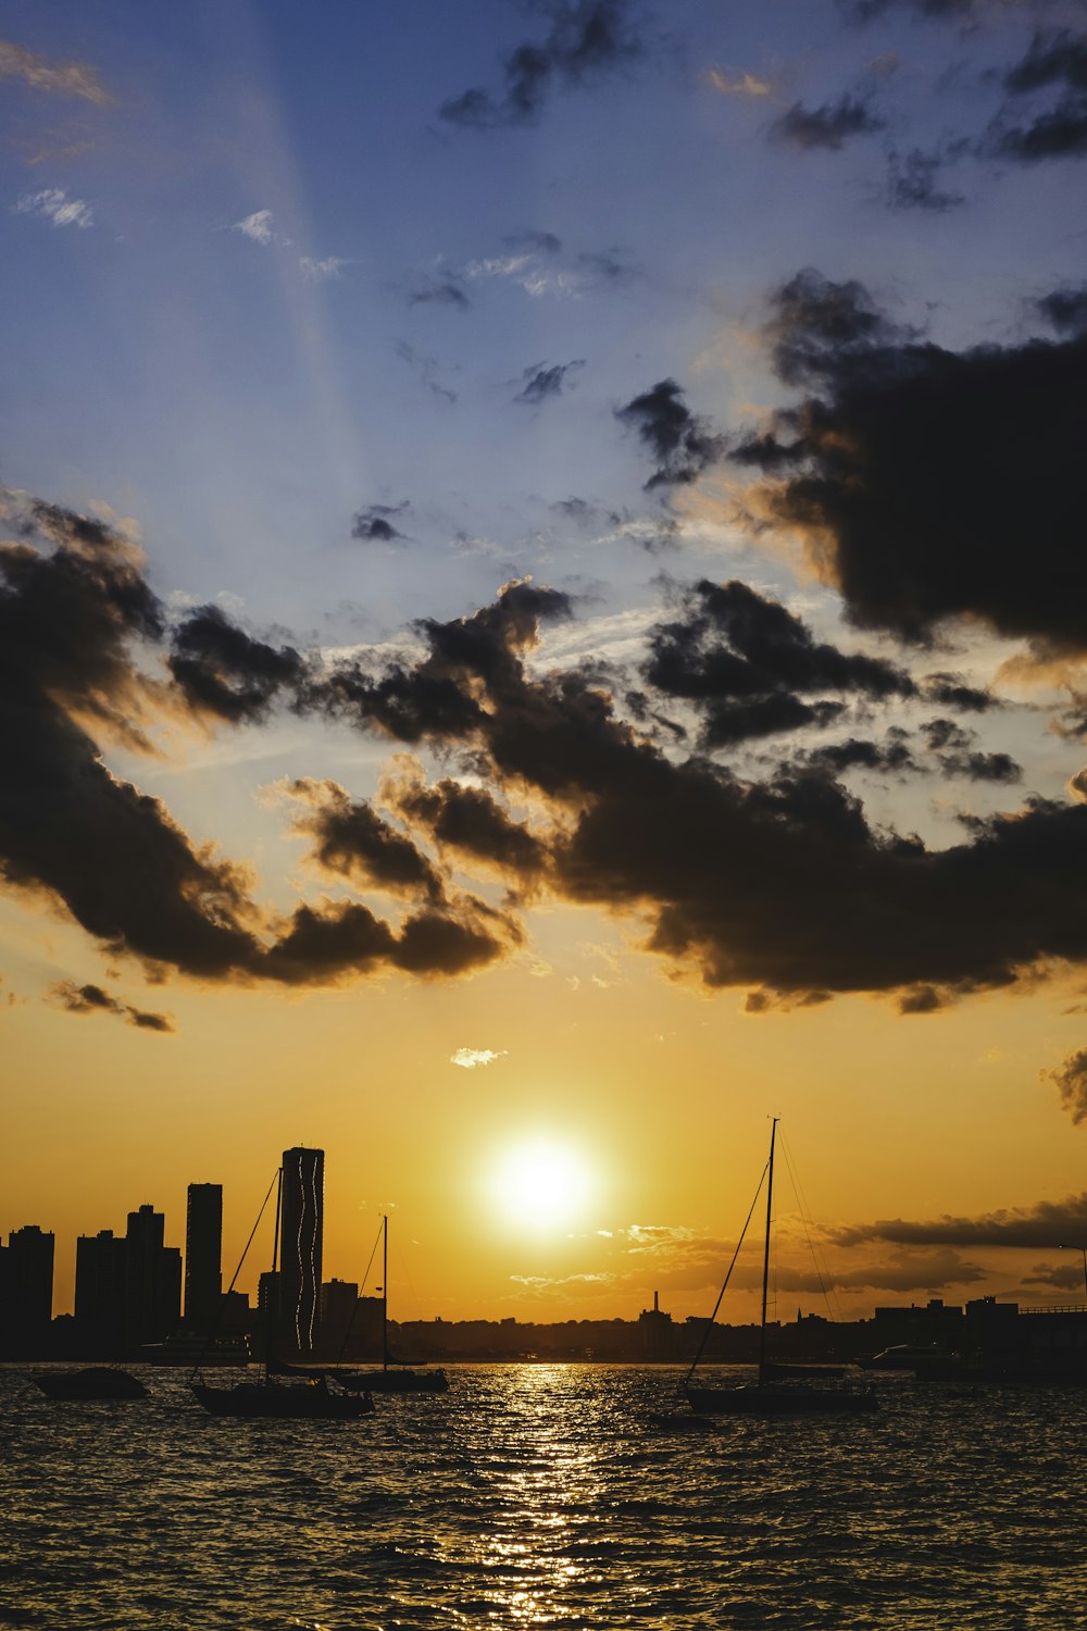
[(825, 727), (843, 711), (841, 703), (807, 703), (797, 693), (831, 690), (878, 700), (914, 695), (904, 670), (815, 641), (786, 607), (737, 579), (694, 584), (684, 617), (650, 630), (649, 648), (645, 678), (658, 692), (704, 709), (706, 747)]

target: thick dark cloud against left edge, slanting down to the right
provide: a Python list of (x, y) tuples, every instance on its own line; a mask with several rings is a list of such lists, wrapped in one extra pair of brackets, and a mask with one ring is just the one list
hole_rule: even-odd
[(161, 638), (165, 617), (142, 558), (99, 522), (13, 507), (54, 548), (0, 550), (0, 868), (108, 948), (225, 975), (257, 949), (243, 876), (112, 776), (90, 734), (143, 740), (134, 721), (150, 687), (132, 651)]

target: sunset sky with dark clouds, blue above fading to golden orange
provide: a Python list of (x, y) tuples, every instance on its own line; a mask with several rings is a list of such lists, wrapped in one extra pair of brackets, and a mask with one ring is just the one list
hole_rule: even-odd
[(1082, 1300), (1085, 160), (1072, 0), (0, 3), (57, 1311), (306, 1143), (393, 1316), (701, 1315), (772, 1116), (782, 1318)]

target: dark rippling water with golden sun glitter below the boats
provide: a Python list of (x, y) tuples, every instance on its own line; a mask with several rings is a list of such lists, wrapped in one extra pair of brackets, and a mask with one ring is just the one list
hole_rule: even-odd
[(699, 1422), (680, 1372), (456, 1367), (357, 1422), (55, 1404), (0, 1372), (16, 1631), (1087, 1626), (1087, 1391), (877, 1381)]

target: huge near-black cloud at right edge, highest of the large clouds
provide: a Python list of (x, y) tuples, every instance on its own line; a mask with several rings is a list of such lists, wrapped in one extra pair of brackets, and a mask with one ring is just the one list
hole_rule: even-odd
[(732, 457), (764, 471), (756, 512), (808, 540), (856, 623), (926, 639), (981, 618), (1087, 649), (1087, 338), (944, 351), (810, 271), (768, 333), (813, 393)]

